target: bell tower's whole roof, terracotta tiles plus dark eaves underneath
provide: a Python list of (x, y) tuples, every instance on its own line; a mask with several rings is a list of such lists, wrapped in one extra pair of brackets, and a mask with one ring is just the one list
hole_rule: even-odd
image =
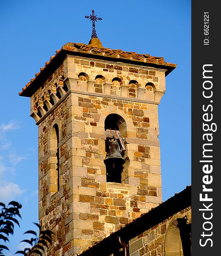
[(69, 42), (61, 49), (57, 50), (56, 54), (51, 56), (50, 61), (45, 62), (45, 66), (40, 68), (40, 72), (36, 73), (35, 77), (22, 88), (19, 95), (30, 97), (37, 89), (37, 84), (39, 86), (39, 84), (44, 82), (48, 76), (51, 76), (51, 74), (62, 64), (62, 61), (64, 61), (67, 55), (161, 68), (166, 70), (166, 76), (176, 67), (176, 64), (165, 62), (163, 57), (154, 57), (149, 54), (139, 54), (136, 52), (125, 52), (120, 49), (104, 48), (102, 47), (102, 44), (90, 44), (90, 42), (89, 44)]

